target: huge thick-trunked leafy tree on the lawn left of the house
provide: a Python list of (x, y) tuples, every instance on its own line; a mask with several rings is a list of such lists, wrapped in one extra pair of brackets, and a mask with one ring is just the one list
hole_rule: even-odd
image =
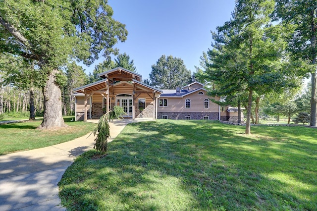
[(69, 58), (89, 65), (101, 52), (108, 59), (118, 53), (113, 45), (125, 41), (127, 31), (112, 14), (106, 0), (0, 1), (0, 52), (37, 61), (46, 76), (40, 128), (66, 126), (58, 82)]

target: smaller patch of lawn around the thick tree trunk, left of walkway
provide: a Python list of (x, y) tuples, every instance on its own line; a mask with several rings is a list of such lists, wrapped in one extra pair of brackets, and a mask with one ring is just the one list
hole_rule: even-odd
[(96, 124), (71, 121), (73, 116), (64, 117), (68, 128), (39, 130), (42, 120), (0, 125), (0, 155), (18, 151), (48, 147), (81, 137), (96, 127)]

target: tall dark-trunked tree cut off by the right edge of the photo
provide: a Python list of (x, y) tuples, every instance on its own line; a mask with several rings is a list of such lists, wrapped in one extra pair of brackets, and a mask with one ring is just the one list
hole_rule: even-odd
[(276, 0), (276, 19), (280, 25), (294, 28), (289, 36), (288, 51), (294, 59), (301, 59), (310, 65), (312, 79), (311, 126), (317, 126), (317, 1), (316, 0)]

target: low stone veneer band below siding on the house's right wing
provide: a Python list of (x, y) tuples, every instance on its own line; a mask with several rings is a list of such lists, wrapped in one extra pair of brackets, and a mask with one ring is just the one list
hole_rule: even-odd
[(185, 119), (185, 116), (190, 116), (190, 119), (204, 119), (204, 116), (209, 116), (210, 120), (219, 120), (218, 112), (158, 112), (158, 119), (163, 115), (167, 115), (168, 119)]

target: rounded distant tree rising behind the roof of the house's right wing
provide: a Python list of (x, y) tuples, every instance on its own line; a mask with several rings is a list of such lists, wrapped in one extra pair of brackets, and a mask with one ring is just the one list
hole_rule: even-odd
[(192, 75), (181, 58), (162, 55), (157, 63), (152, 65), (150, 80), (156, 88), (175, 89), (191, 83)]

